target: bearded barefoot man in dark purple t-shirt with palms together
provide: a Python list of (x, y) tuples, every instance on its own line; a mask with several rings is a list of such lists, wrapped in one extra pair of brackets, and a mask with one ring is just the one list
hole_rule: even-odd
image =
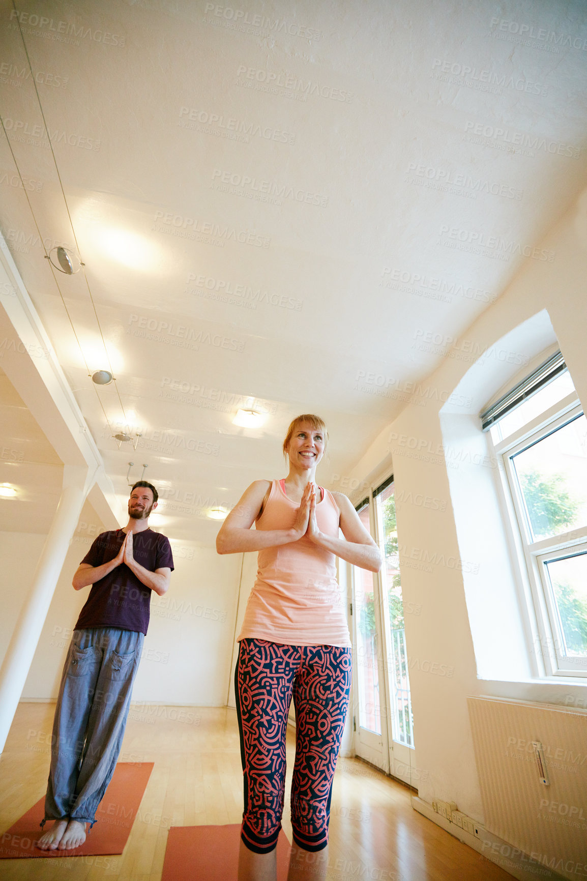
[(130, 492), (129, 522), (102, 532), (73, 576), (76, 590), (92, 585), (71, 638), (53, 723), (45, 818), (56, 822), (36, 842), (41, 850), (71, 850), (85, 841), (85, 824), (114, 774), (130, 709), (151, 592), (163, 596), (174, 568), (169, 540), (149, 529), (158, 492), (139, 480)]

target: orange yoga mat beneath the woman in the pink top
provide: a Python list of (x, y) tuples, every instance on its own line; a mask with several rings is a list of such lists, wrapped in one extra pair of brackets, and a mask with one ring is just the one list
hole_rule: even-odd
[[(236, 881), (241, 825), (172, 826), (161, 881)], [(283, 830), (277, 846), (278, 881), (286, 881), (290, 846)]]

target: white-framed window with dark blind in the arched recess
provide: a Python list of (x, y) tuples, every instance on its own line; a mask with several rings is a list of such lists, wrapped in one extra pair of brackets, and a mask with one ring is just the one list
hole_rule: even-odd
[(587, 420), (558, 352), (481, 414), (503, 463), (546, 675), (587, 676)]

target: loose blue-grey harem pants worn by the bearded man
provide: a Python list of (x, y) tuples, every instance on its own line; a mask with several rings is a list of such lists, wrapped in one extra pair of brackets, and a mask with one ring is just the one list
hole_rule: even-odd
[(45, 820), (94, 823), (123, 744), (145, 636), (119, 627), (74, 630), (57, 698)]

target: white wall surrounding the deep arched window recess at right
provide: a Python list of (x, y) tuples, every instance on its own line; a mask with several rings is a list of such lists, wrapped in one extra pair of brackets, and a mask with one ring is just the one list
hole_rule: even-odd
[[(556, 252), (554, 263), (527, 261), (502, 297), (464, 331), (452, 357), (427, 378), (425, 385), (437, 390), (438, 399), (429, 394), (426, 406), (406, 406), (348, 475), (370, 481), (393, 471), (396, 492), (407, 500), (398, 503), (398, 540), (404, 602), (421, 606), (418, 616), (405, 616), (416, 756), (423, 772), (420, 779), (425, 780), (420, 796), (427, 802), (454, 800), (459, 810), (481, 822), (466, 696), (494, 694), (564, 703), (569, 694), (584, 697), (585, 693), (585, 685), (577, 685), (576, 680), (532, 680), (531, 647), (524, 643), (511, 542), (499, 521), (496, 472), (483, 455), (473, 461), (463, 455), (472, 443), (477, 453), (487, 453), (479, 428), (472, 441), (472, 425), (479, 426), (482, 404), (524, 367), (520, 361), (528, 359), (529, 367), (531, 359), (557, 339), (576, 390), (587, 403), (585, 242), (579, 241), (572, 215), (546, 241), (546, 247)], [(534, 317), (544, 309), (547, 315)], [(552, 322), (554, 339), (545, 318)], [(530, 319), (534, 332), (515, 332), (512, 338), (518, 348), (512, 350), (512, 339), (502, 337)], [(467, 354), (472, 344), (483, 349), (500, 340), (494, 352), (473, 368), (473, 385), (485, 397), (481, 406), (472, 396), (469, 408), (447, 405), (441, 414), (442, 400), (461, 389), (459, 382), (477, 359)], [(504, 345), (515, 355), (502, 354)], [(410, 501), (417, 493), (444, 505), (435, 509)], [(467, 559), (471, 554), (472, 559)], [(501, 612), (495, 612), (496, 604)], [(504, 611), (508, 606), (509, 613)], [(434, 662), (439, 666), (433, 668)], [(445, 675), (433, 674), (433, 669), (445, 670)]]

